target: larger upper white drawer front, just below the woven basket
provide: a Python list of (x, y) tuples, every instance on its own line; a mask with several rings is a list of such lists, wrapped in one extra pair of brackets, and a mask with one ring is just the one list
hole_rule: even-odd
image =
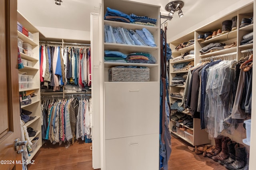
[(159, 132), (159, 84), (105, 83), (106, 139)]

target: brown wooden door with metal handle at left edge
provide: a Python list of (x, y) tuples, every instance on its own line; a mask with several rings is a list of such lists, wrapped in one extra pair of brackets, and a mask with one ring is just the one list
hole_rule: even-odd
[(14, 149), (20, 138), (17, 0), (0, 0), (0, 169), (22, 169)]

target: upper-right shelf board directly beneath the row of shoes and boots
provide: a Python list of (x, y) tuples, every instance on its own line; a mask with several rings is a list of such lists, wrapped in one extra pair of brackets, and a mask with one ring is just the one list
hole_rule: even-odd
[(227, 40), (232, 40), (232, 39), (236, 38), (236, 36), (237, 36), (237, 30), (234, 30), (234, 31), (222, 34), (220, 36), (210, 38), (209, 40), (205, 40), (204, 42), (201, 42), (201, 44), (225, 42)]

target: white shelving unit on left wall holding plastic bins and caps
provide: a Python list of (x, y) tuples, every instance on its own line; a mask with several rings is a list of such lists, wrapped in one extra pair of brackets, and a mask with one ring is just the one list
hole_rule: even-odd
[(33, 138), (38, 137), (37, 141), (37, 147), (35, 150), (33, 150), (31, 153), (29, 153), (29, 160), (32, 160), (36, 152), (40, 149), (42, 146), (42, 134), (41, 134), (41, 114), (40, 114), (40, 71), (39, 71), (39, 32), (38, 30), (30, 23), (20, 12), (17, 12), (17, 20), (20, 22), (27, 30), (28, 32), (31, 32), (33, 35), (33, 40), (29, 39), (27, 36), (22, 34), (18, 31), (18, 38), (20, 38), (23, 43), (29, 43), (32, 45), (32, 52), (33, 55), (29, 56), (22, 51), (20, 52), (20, 56), (22, 59), (26, 59), (28, 61), (31, 61), (33, 64), (33, 67), (24, 66), (23, 69), (20, 69), (19, 71), (26, 72), (26, 75), (32, 75), (33, 78), (33, 85), (32, 88), (24, 88), (19, 89), (19, 92), (22, 91), (34, 91), (36, 94), (35, 97), (31, 98), (31, 103), (28, 105), (22, 105), (21, 108), (31, 111), (32, 114), (30, 116), (35, 117), (32, 121), (28, 121), (25, 125), (26, 127), (32, 127), (34, 130), (37, 130), (36, 135), (30, 137), (30, 140), (33, 140)]

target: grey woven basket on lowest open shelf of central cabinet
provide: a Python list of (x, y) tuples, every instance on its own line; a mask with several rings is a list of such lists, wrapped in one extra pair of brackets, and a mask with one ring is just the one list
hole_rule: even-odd
[(149, 81), (149, 68), (119, 68), (108, 70), (108, 81)]

